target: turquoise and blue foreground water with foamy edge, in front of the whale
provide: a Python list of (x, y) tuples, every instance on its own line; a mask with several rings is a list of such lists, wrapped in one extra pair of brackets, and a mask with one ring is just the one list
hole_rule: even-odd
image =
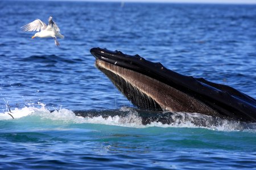
[[(139, 125), (45, 109), (0, 122), (2, 168), (255, 167), (255, 129)], [(255, 125), (254, 125), (255, 126)]]

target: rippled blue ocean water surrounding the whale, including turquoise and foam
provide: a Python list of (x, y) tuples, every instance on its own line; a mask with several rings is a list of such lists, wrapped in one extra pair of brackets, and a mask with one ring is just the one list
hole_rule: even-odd
[[(49, 16), (59, 48), (20, 29)], [(144, 125), (89, 52), (139, 54), (255, 98), (255, 18), (255, 5), (0, 1), (0, 168), (255, 169), (256, 124), (176, 113)]]

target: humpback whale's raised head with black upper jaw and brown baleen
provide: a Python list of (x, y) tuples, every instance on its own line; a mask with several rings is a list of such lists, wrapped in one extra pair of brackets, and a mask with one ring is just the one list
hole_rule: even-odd
[(230, 86), (181, 75), (138, 54), (102, 48), (90, 53), (96, 67), (139, 109), (256, 122), (256, 100)]

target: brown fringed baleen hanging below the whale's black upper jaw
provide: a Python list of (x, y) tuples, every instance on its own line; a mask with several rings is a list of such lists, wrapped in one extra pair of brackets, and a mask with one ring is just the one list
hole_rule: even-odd
[(202, 113), (223, 117), (195, 99), (147, 75), (96, 59), (96, 67), (140, 109), (170, 112)]

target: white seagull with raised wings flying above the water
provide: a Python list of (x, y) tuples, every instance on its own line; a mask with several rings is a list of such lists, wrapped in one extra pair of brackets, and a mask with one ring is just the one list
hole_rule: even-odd
[[(60, 43), (57, 41), (57, 37), (64, 39), (64, 36), (60, 33), (60, 28), (58, 25), (52, 20), (52, 16), (49, 17), (48, 25), (42, 22), (40, 19), (34, 20), (34, 22), (28, 23), (21, 27), (23, 31), (38, 31), (32, 36), (32, 39), (35, 37), (40, 38), (49, 38), (52, 37), (55, 41), (55, 45), (59, 46)], [(40, 31), (40, 32), (39, 32)]]

